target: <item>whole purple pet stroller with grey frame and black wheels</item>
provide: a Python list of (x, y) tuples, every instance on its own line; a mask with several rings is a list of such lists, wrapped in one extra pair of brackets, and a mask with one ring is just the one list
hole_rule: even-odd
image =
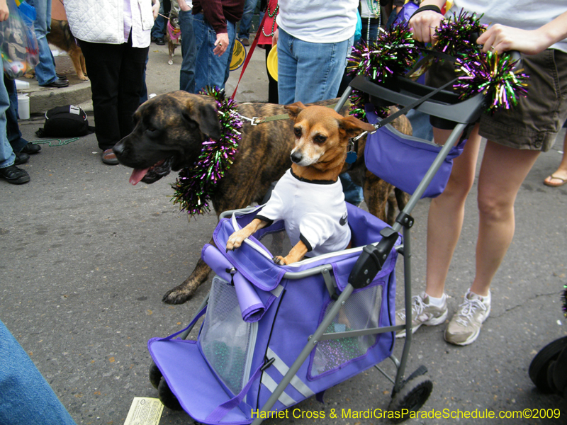
[[(454, 127), (439, 147), (401, 135), (384, 125), (388, 118), (376, 118), (373, 105), (367, 106), (369, 121), (378, 130), (368, 135), (366, 165), (412, 194), (395, 224), (390, 227), (347, 205), (352, 249), (277, 266), (274, 255), (291, 248), (283, 222), (225, 252), (230, 234), (262, 206), (223, 214), (213, 235), (216, 246), (207, 244), (202, 251), (216, 274), (208, 298), (189, 327), (148, 342), (155, 362), (150, 381), (167, 407), (184, 409), (203, 424), (259, 424), (313, 395), (322, 400), (327, 388), (372, 367), (394, 385), (388, 411), (398, 412), (398, 421), (408, 417), (402, 412), (416, 411), (427, 401), (432, 381), (425, 366), (404, 378), (412, 340), (410, 212), (423, 196), (443, 191), (452, 158), (462, 151), (463, 142), (456, 142), (478, 119), (483, 98), (459, 102), (449, 91), (397, 80), (392, 89), (357, 77), (336, 106), (339, 111), (354, 88), (370, 94), (376, 106), (416, 108), (437, 117), (437, 127)], [(400, 254), (408, 314), (405, 324), (396, 326), (395, 264)], [(186, 340), (203, 314), (198, 339)], [(402, 329), (407, 336), (398, 361), (392, 353), (395, 331)], [(386, 358), (395, 365), (395, 377), (378, 366)]]

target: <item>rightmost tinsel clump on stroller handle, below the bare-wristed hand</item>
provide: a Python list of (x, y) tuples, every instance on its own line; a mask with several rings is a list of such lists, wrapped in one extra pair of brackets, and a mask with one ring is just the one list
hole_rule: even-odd
[(487, 113), (510, 109), (517, 105), (519, 96), (527, 94), (527, 75), (515, 71), (517, 61), (509, 53), (473, 53), (457, 60), (457, 72), (462, 75), (454, 85), (461, 99), (478, 93), (487, 95)]

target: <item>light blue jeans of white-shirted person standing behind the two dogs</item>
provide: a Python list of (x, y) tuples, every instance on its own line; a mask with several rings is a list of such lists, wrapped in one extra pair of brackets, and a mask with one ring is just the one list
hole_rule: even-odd
[(317, 102), (337, 97), (354, 36), (342, 42), (306, 42), (279, 28), (279, 103)]

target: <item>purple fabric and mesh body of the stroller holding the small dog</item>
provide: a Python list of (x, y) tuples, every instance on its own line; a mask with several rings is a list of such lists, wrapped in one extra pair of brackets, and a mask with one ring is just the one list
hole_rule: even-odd
[[(348, 205), (352, 245), (357, 248), (277, 266), (271, 258), (291, 245), (283, 222), (259, 230), (235, 251), (230, 234), (261, 209), (220, 220), (215, 245), (202, 258), (216, 273), (197, 341), (150, 339), (152, 358), (181, 407), (205, 424), (249, 424), (266, 403), (347, 286), (361, 247), (380, 239), (387, 225)], [(398, 243), (401, 238), (398, 238)], [(272, 252), (273, 251), (273, 252)], [(395, 323), (393, 249), (364, 289), (354, 290), (326, 334), (389, 327)], [(272, 410), (286, 409), (391, 355), (393, 332), (347, 334), (313, 345)]]

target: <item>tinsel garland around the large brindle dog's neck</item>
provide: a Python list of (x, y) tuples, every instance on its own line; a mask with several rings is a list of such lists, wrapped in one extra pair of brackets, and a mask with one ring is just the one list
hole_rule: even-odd
[(242, 120), (236, 111), (236, 103), (225, 97), (225, 91), (207, 87), (201, 94), (215, 98), (220, 121), (220, 139), (203, 142), (201, 154), (193, 166), (179, 171), (172, 202), (189, 216), (210, 211), (209, 200), (216, 186), (232, 165), (240, 142)]

